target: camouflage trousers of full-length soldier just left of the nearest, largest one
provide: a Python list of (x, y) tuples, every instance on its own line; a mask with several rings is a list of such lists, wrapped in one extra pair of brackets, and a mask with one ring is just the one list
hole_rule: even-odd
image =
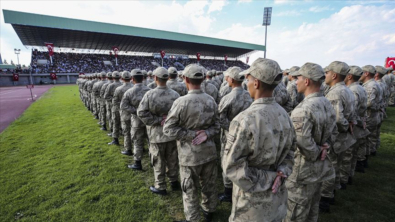
[(214, 212), (217, 205), (216, 160), (198, 166), (180, 165), (180, 178), (184, 214), (188, 221), (200, 220), (198, 184), (201, 186), (201, 207)]

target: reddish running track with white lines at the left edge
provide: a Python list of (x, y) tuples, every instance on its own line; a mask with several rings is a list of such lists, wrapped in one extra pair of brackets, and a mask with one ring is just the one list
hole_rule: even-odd
[[(51, 87), (52, 85), (34, 85), (34, 88), (32, 88), (33, 99), (37, 100)], [(30, 104), (34, 103), (31, 100), (30, 89), (26, 86), (0, 88), (0, 133), (17, 119)]]

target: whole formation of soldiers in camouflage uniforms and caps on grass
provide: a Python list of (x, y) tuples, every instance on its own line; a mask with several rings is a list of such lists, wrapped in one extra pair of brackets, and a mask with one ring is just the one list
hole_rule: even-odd
[[(248, 70), (190, 64), (81, 75), (77, 84), (102, 130), (108, 123), (109, 144), (119, 144), (121, 126), (122, 154), (134, 156), (128, 167), (142, 169), (147, 141), (150, 190), (166, 195), (166, 177), (181, 188), (182, 221), (199, 221), (200, 212), (211, 221), (217, 200), (232, 203), (229, 221), (317, 221), (376, 155), (392, 71), (339, 61), (281, 70), (258, 58)], [(217, 196), (218, 134), (225, 190)]]

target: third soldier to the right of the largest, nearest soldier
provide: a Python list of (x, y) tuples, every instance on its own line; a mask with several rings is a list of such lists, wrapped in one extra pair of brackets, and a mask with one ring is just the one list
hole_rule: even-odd
[(366, 159), (365, 137), (369, 135), (370, 132), (366, 128), (365, 120), (367, 93), (361, 86), (361, 82), (359, 82), (362, 73), (362, 69), (358, 66), (350, 66), (350, 71), (346, 79), (344, 79), (344, 83), (346, 83), (347, 87), (350, 88), (354, 94), (354, 111), (357, 124), (355, 124), (353, 128), (353, 133), (357, 141), (351, 146), (351, 149), (348, 149), (344, 154), (345, 161), (342, 167), (346, 168), (345, 171), (350, 172), (350, 177), (348, 177), (347, 181), (346, 178), (344, 178), (343, 181), (340, 181), (341, 183), (352, 184), (355, 168), (359, 172), (364, 172), (363, 161)]

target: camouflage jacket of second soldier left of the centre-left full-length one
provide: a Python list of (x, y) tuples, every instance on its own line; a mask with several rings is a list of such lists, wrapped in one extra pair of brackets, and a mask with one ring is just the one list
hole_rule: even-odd
[(146, 87), (143, 83), (137, 83), (134, 87), (126, 90), (121, 100), (121, 110), (122, 113), (127, 115), (129, 113), (132, 115), (132, 127), (144, 127), (145, 124), (141, 121), (139, 117), (137, 117), (137, 108), (143, 96), (146, 92), (148, 92), (150, 88)]

